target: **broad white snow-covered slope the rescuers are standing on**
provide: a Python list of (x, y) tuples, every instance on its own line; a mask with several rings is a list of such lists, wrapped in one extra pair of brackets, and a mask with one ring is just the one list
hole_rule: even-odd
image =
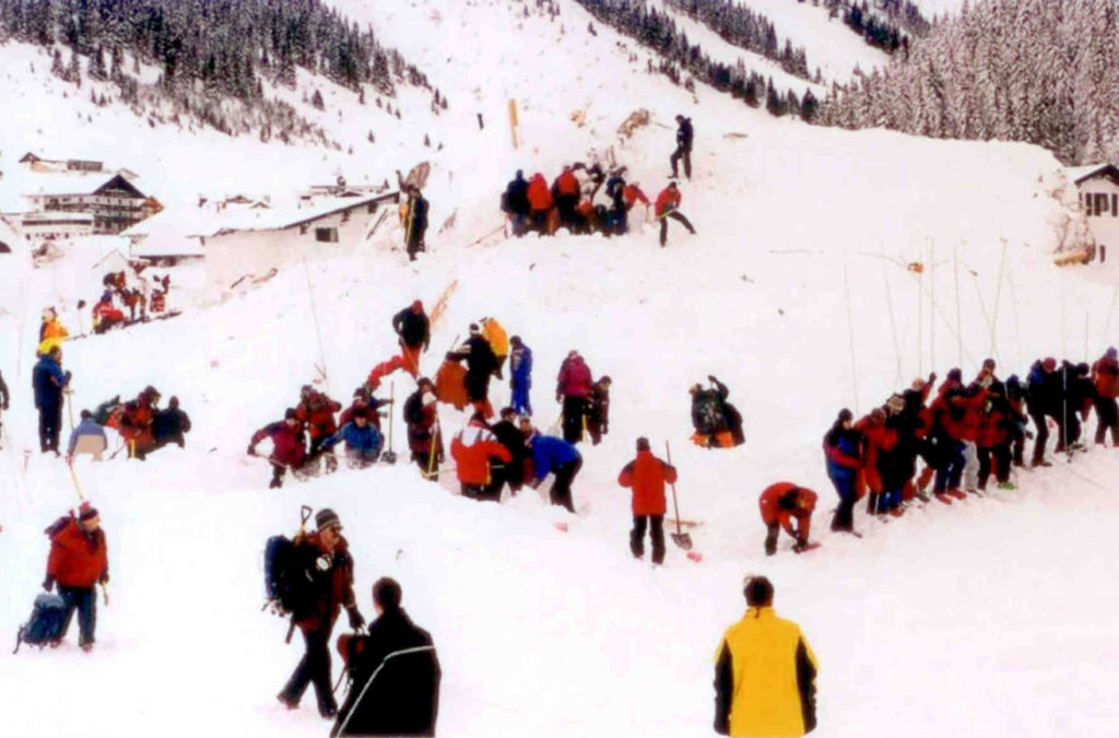
[[(820, 439), (839, 408), (865, 413), (931, 370), (960, 366), (972, 376), (988, 355), (1005, 377), (1024, 375), (1038, 356), (1094, 359), (1117, 343), (1116, 268), (1052, 265), (1061, 208), (1049, 195), (1057, 164), (1047, 152), (809, 128), (704, 88), (693, 99), (629, 69), (605, 29), (584, 37), (585, 24), (567, 24), (561, 35), (545, 18), (497, 3), (382, 4), (368, 16), (341, 7), (359, 22), (391, 22), (386, 43), (431, 69), (450, 97), (450, 111), (431, 122), (446, 146), (426, 152), (431, 251), (410, 267), (379, 241), (225, 301), (199, 295), (180, 318), (64, 346), (75, 412), (154, 384), (164, 402), (180, 398), (194, 430), (186, 449), (142, 464), (77, 465), (109, 536), (112, 600), (98, 613), (91, 655), (73, 635), (57, 651), (0, 654), (9, 685), (0, 735), (326, 735), (312, 698), (295, 712), (275, 701), (302, 648), (285, 646), (286, 624), (260, 611), (264, 541), (294, 532), (300, 504), (341, 516), (367, 618), (372, 583), (393, 576), (405, 609), (432, 633), (444, 673), (440, 735), (712, 735), (714, 651), (742, 614), (747, 572), (772, 579), (779, 615), (801, 625), (819, 658), (814, 735), (1107, 735), (1119, 719), (1110, 695), (1119, 604), (1108, 586), (1119, 564), (1107, 544), (1119, 524), (1115, 450), (1056, 459), (1019, 474), (1017, 491), (934, 503), (888, 524), (861, 507), (862, 540), (827, 531), (835, 497)], [(565, 13), (572, 7), (562, 3)], [(483, 35), (495, 43), (478, 47)], [(510, 64), (511, 39), (539, 58)], [(544, 49), (598, 64), (557, 67)], [(22, 77), (4, 84), (31, 94)], [(39, 94), (51, 120), (77, 104)], [(497, 122), (511, 95), (523, 112), (517, 151)], [(570, 113), (584, 105), (580, 128)], [(637, 108), (653, 124), (620, 142), (614, 130)], [(665, 250), (651, 225), (612, 240), (472, 243), (500, 225), (498, 194), (517, 167), (551, 178), (564, 161), (614, 146), (656, 196), (677, 112), (696, 121), (695, 178), (681, 184), (681, 211), (698, 235), (673, 224)], [(206, 174), (215, 169), (222, 187), (275, 191), (265, 162), (290, 172), (317, 161), (308, 171), (323, 176), (342, 162), (379, 180), (414, 161), (413, 115), (405, 108), (401, 130), (378, 134), (377, 147), (397, 152), (385, 161), (184, 137), (128, 118), (85, 128), (119, 166), (135, 155), (113, 140), (143, 141), (169, 168), (181, 164), (173, 175), (154, 165), (143, 174), (173, 179), (168, 188), (189, 203), (188, 194), (218, 187)], [(68, 150), (68, 129), (58, 125), (37, 146)], [(120, 127), (134, 138), (110, 138)], [(15, 138), (23, 129), (12, 130), (0, 169), (11, 151), (31, 148)], [(90, 299), (100, 283), (91, 261), (81, 252), (53, 269), (0, 261), (0, 371), (13, 392), (0, 450), (0, 634), (12, 641), (43, 579), (41, 531), (77, 499), (65, 465), (32, 452), (25, 470), (23, 451), (37, 448), (30, 347), (44, 305)], [(910, 262), (923, 263), (922, 277)], [(542, 429), (558, 414), (552, 381), (570, 349), (614, 380), (610, 435), (581, 446), (579, 514), (530, 489), (479, 504), (458, 496), (450, 475), (422, 482), (401, 452), (398, 417), (395, 467), (267, 491), (267, 464), (244, 454), (251, 433), (294, 404), (317, 364), (327, 368), (322, 389), (348, 401), (395, 349), (392, 315), (415, 298), (431, 309), (455, 282), (425, 372), (470, 321), (492, 315), (534, 351)], [(740, 449), (687, 441), (687, 387), (707, 374), (730, 385), (745, 418)], [(401, 402), (413, 385), (396, 374), (393, 387)], [(493, 382), (491, 396), (504, 404), (508, 387)], [(443, 410), (441, 421), (454, 431), (463, 417)], [(617, 475), (639, 435), (658, 454), (673, 445), (681, 516), (704, 523), (692, 530), (700, 563), (670, 542), (659, 569), (629, 554), (629, 494)], [(820, 493), (818, 551), (796, 557), (782, 539), (778, 555), (762, 555), (756, 497), (780, 479)]]

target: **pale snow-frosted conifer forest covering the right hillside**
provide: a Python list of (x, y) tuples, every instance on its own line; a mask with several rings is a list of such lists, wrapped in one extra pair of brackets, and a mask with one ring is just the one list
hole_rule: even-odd
[(1065, 164), (1119, 159), (1119, 2), (981, 0), (908, 62), (837, 87), (824, 123), (1043, 146)]

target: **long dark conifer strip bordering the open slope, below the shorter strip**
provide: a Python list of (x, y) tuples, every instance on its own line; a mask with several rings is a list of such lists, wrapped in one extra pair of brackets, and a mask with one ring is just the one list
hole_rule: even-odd
[[(645, 0), (575, 0), (599, 21), (619, 32), (636, 39), (652, 49), (660, 57), (658, 65), (649, 60), (648, 71), (664, 74), (676, 84), (681, 84), (681, 69), (696, 80), (707, 83), (720, 92), (728, 93), (746, 104), (765, 109), (774, 115), (798, 114), (806, 120), (816, 115), (818, 103), (811, 91), (801, 100), (792, 90), (779, 93), (773, 80), (746, 69), (742, 59), (734, 66), (714, 62), (698, 44), (688, 41), (687, 36), (676, 27), (667, 12), (657, 12)], [(687, 86), (687, 82), (683, 82)]]

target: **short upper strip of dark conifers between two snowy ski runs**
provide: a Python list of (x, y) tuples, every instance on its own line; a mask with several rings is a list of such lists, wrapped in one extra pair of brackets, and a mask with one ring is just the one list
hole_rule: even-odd
[(773, 22), (733, 0), (665, 0), (665, 4), (698, 20), (724, 41), (773, 59), (789, 74), (811, 80), (805, 48), (781, 45)]

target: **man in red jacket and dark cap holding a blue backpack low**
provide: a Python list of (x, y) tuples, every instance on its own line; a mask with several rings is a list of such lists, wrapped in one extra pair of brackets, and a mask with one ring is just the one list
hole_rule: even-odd
[(57, 646), (69, 628), (70, 617), (77, 609), (78, 645), (82, 651), (93, 650), (97, 626), (97, 583), (109, 582), (109, 544), (101, 530), (101, 517), (90, 503), (82, 503), (77, 519), (60, 521), (62, 525), (47, 529), (50, 535), (50, 557), (47, 559), (47, 578), (43, 588), (50, 591), (58, 585), (58, 595), (66, 602), (66, 625), (62, 635), (51, 643)]

